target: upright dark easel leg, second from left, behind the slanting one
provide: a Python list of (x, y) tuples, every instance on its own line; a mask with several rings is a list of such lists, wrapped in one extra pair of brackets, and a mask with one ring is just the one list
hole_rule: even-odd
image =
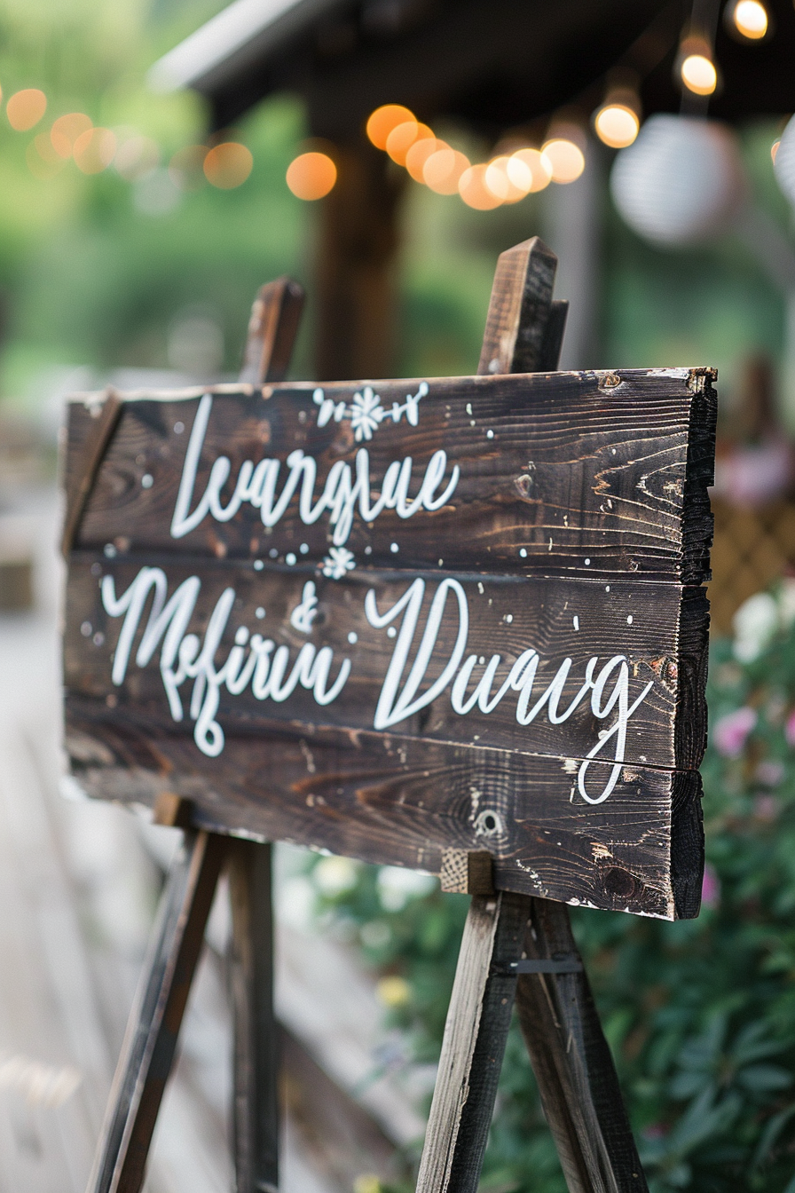
[(237, 1193), (275, 1193), (279, 1187), (279, 1040), (273, 1015), (271, 853), (269, 845), (229, 842)]

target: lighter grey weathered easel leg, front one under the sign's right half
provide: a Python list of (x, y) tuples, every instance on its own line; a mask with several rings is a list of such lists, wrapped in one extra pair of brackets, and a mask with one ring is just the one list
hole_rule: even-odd
[(529, 900), (474, 895), (464, 928), (417, 1193), (474, 1193), (510, 1026)]

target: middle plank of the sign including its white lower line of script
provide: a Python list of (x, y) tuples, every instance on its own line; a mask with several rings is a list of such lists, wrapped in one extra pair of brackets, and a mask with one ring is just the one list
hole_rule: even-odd
[[(159, 666), (168, 653), (166, 625), (147, 666), (138, 666), (136, 653), (154, 619), (147, 602), (147, 612), (136, 618), (131, 647), (124, 648), (129, 663), (120, 676), (112, 669), (119, 667), (120, 643), (132, 623), (126, 608), (110, 617), (110, 598), (101, 595), (108, 583), (105, 577), (110, 577), (113, 598), (120, 599), (133, 582), (141, 583), (137, 576), (148, 582), (149, 567), (159, 563), (168, 599), (178, 586), (194, 582), (191, 577), (200, 583), (186, 629), (203, 642), (209, 641), (209, 623), (218, 624), (216, 610), (224, 594), (232, 594), (213, 665), (219, 672), (230, 651), (240, 659), (229, 681), (216, 685), (217, 723), (226, 736), (300, 723), (344, 731), (384, 729), (398, 737), (571, 759), (586, 759), (598, 749), (601, 759), (638, 766), (695, 767), (701, 761), (707, 600), (701, 589), (683, 591), (675, 583), (462, 576), (440, 581), (429, 576), (418, 582), (423, 595), (417, 581), (404, 574), (354, 571), (334, 581), (306, 568), (256, 571), (250, 564), (242, 568), (224, 561), (207, 569), (201, 560), (106, 560), (79, 552), (72, 560), (66, 611), (67, 704), (73, 696), (91, 696), (108, 700), (119, 718), (135, 710), (151, 717), (153, 727), (157, 719), (168, 719), (169, 700)], [(405, 604), (410, 586), (420, 599), (414, 630), (411, 610), (400, 612), (399, 605)], [(427, 626), (437, 599), (445, 604), (433, 653), (415, 697), (408, 700), (409, 670), (421, 641), (431, 632)], [(398, 616), (389, 626), (373, 625), (377, 614), (384, 617), (393, 607)], [(317, 685), (294, 679), (286, 694), (298, 659), (306, 659), (309, 667), (321, 645), (333, 654), (319, 694)], [(286, 660), (281, 668), (271, 663), (279, 653)], [(529, 676), (529, 687), (522, 688), (520, 672)], [(243, 682), (241, 676), (247, 674), (249, 680)], [(397, 676), (391, 697), (387, 675)], [(518, 675), (513, 686), (510, 675)], [(340, 680), (339, 694), (324, 703)], [(555, 681), (559, 696), (545, 705), (544, 694)], [(191, 692), (198, 682), (182, 680), (176, 709), (178, 715), (182, 710), (180, 729), (194, 735), (197, 764), (201, 752), (217, 748), (207, 742), (207, 718), (198, 706), (192, 707)], [(434, 691), (439, 694), (423, 703)], [(402, 715), (400, 700), (408, 716)], [(595, 716), (605, 709), (607, 716)], [(530, 716), (532, 721), (522, 723)], [(216, 723), (212, 717), (210, 722)], [(626, 746), (619, 744), (625, 730)], [(605, 733), (610, 734), (607, 738)], [(600, 736), (604, 738), (601, 748)], [(583, 771), (582, 783), (588, 798), (598, 798), (601, 789), (591, 779), (592, 766)]]

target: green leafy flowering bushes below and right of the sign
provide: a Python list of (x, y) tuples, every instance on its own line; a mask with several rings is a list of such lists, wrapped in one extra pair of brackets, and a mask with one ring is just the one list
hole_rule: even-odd
[[(712, 651), (701, 916), (572, 909), (653, 1193), (795, 1189), (793, 587), (753, 598), (739, 630)], [(441, 1044), (465, 900), (423, 894), (422, 879), (396, 900), (393, 874), (356, 864), (347, 883), (324, 886), (321, 873), (316, 885), (365, 963), (403, 978), (385, 988), (389, 1016), (427, 1059)], [(564, 1188), (513, 1031), (483, 1189)]]

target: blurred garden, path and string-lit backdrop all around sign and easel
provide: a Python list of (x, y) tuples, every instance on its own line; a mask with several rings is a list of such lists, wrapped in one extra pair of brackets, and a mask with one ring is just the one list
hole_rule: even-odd
[[(791, 0), (0, 0), (0, 1189), (85, 1187), (178, 836), (61, 777), (66, 395), (234, 379), (284, 273), (292, 376), (471, 372), (539, 234), (561, 367), (720, 394), (704, 907), (572, 919), (653, 1189), (794, 1193), (794, 61)], [(465, 901), (278, 857), (284, 1188), (411, 1188)], [(151, 1193), (231, 1187), (228, 933)], [(564, 1188), (517, 1037), (483, 1188)]]

